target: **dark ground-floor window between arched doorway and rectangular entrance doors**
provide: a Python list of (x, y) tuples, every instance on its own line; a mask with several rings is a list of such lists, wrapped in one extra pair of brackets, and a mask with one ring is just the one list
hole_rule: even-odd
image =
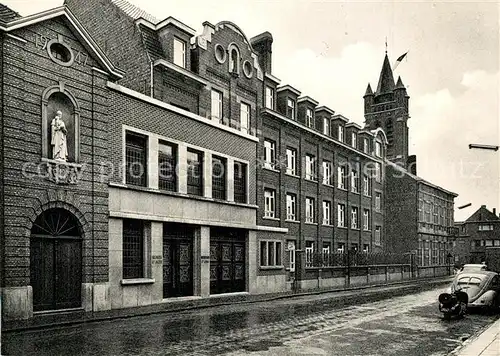
[(144, 277), (144, 223), (123, 220), (123, 279)]

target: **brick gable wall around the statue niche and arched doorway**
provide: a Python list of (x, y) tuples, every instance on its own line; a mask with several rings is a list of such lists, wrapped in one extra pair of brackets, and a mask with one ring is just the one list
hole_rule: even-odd
[[(92, 167), (97, 170), (93, 158), (107, 159), (106, 78), (92, 70), (97, 63), (60, 19), (17, 30), (14, 35), (27, 42), (6, 37), (2, 47), (5, 286), (29, 284), (30, 229), (48, 207), (70, 209), (82, 224), (83, 281), (106, 281), (107, 182), (92, 177)], [(71, 67), (54, 63), (42, 48), (40, 35), (48, 39), (62, 36), (75, 53), (88, 56), (87, 62), (75, 62)], [(86, 166), (79, 183), (71, 186), (37, 175), (42, 158), (42, 93), (59, 83), (64, 83), (80, 106), (80, 162)]]

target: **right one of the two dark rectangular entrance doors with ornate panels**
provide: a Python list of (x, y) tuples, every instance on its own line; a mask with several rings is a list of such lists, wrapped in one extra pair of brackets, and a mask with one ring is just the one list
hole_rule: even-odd
[(210, 294), (245, 291), (245, 237), (242, 230), (210, 230)]

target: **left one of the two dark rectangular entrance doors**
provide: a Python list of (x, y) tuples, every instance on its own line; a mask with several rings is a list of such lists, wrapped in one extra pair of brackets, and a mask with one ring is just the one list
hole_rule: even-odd
[(194, 227), (163, 226), (163, 297), (193, 295)]

